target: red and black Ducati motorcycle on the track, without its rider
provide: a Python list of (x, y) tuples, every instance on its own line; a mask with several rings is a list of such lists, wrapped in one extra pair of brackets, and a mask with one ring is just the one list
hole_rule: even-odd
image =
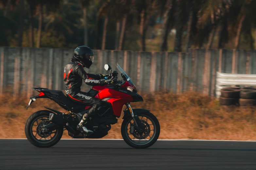
[(82, 116), (88, 112), (91, 106), (78, 104), (71, 101), (62, 91), (49, 90), (46, 88), (32, 88), (39, 92), (37, 96), (29, 97), (30, 102), (39, 98), (51, 99), (67, 110), (62, 113), (58, 110), (45, 107), (48, 110), (40, 110), (33, 113), (25, 125), (25, 134), (28, 141), (36, 147), (52, 147), (60, 141), (63, 130), (68, 131), (72, 138), (102, 138), (108, 135), (111, 125), (117, 123), (121, 116), (123, 106), (123, 122), (121, 134), (124, 141), (133, 148), (148, 148), (153, 145), (160, 134), (160, 124), (157, 118), (146, 109), (132, 109), (130, 102), (142, 102), (143, 98), (137, 93), (134, 83), (126, 72), (116, 63), (117, 69), (121, 72), (122, 80), (117, 81), (118, 72), (113, 71), (111, 66), (105, 64), (105, 69), (110, 70), (109, 80), (115, 80), (114, 85), (93, 86), (89, 96), (94, 96), (102, 101), (97, 108), (97, 118), (91, 120), (88, 125), (93, 134), (86, 134), (76, 129)]

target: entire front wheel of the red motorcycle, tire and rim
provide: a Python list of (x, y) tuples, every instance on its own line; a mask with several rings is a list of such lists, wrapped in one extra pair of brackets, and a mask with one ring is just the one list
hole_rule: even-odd
[(131, 117), (126, 118), (121, 126), (124, 141), (136, 149), (145, 149), (153, 145), (160, 135), (160, 124), (155, 115), (144, 112), (138, 115), (143, 124), (143, 133), (136, 130), (135, 122)]

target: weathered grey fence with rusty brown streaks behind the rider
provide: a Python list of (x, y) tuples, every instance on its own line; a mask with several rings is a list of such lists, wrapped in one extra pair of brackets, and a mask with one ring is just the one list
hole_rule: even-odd
[[(64, 90), (64, 65), (74, 50), (0, 47), (0, 94), (31, 96), (32, 87)], [(118, 62), (141, 92), (194, 90), (215, 95), (216, 71), (256, 74), (256, 50), (190, 49), (183, 52), (94, 50), (89, 73), (108, 73)], [(120, 77), (120, 76), (119, 76)], [(90, 87), (83, 85), (82, 90)]]

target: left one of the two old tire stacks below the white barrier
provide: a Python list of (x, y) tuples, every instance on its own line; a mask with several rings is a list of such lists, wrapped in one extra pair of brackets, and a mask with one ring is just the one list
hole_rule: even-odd
[(238, 105), (240, 98), (240, 87), (225, 87), (221, 91), (220, 105)]

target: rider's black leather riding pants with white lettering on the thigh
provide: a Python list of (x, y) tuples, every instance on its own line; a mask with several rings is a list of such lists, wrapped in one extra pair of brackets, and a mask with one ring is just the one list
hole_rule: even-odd
[(86, 119), (86, 117), (88, 116), (93, 117), (94, 115), (96, 115), (96, 108), (101, 104), (101, 100), (95, 97), (88, 96), (86, 92), (72, 92), (69, 90), (67, 96), (74, 102), (80, 104), (84, 103), (87, 106), (92, 106), (88, 113), (83, 116), (84, 119)]

